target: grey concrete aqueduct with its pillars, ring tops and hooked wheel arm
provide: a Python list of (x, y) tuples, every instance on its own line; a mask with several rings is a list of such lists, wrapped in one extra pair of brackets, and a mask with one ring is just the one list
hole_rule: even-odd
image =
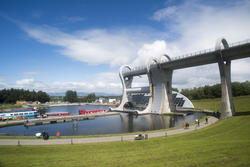
[[(176, 110), (172, 99), (173, 71), (188, 67), (217, 63), (221, 78), (222, 109), (221, 118), (235, 114), (231, 88), (231, 61), (250, 57), (250, 40), (228, 44), (226, 39), (219, 38), (214, 49), (198, 51), (193, 54), (170, 58), (167, 55), (150, 58), (145, 66), (120, 68), (120, 79), (123, 85), (123, 96), (119, 107), (112, 110), (124, 111), (124, 105), (132, 102), (132, 93), (149, 93), (147, 107), (138, 114), (170, 113)], [(133, 88), (133, 77), (147, 75), (149, 87)]]

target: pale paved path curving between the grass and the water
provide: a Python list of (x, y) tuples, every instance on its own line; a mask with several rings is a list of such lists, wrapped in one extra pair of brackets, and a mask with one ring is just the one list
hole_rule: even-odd
[[(181, 134), (190, 132), (196, 129), (201, 129), (215, 123), (218, 119), (215, 117), (210, 117), (208, 119), (208, 124), (202, 122), (199, 127), (197, 125), (192, 125), (188, 129), (175, 129), (160, 132), (147, 133), (148, 138), (161, 137), (161, 136), (171, 136), (175, 134)], [(134, 140), (134, 135), (124, 135), (124, 136), (110, 136), (110, 137), (90, 137), (90, 138), (74, 138), (74, 139), (0, 139), (0, 145), (55, 145), (55, 144), (80, 144), (80, 143), (99, 143), (99, 142), (113, 142), (113, 141), (123, 141), (123, 140)]]

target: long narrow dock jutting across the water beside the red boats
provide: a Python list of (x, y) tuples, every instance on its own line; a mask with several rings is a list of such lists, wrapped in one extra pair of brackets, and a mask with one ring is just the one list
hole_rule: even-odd
[(0, 127), (5, 126), (14, 126), (14, 125), (24, 125), (24, 126), (36, 126), (36, 125), (46, 125), (46, 124), (54, 124), (54, 123), (64, 123), (71, 122), (74, 120), (93, 120), (95, 117), (104, 117), (111, 115), (118, 115), (117, 112), (100, 112), (100, 113), (92, 113), (85, 115), (69, 115), (69, 116), (53, 116), (47, 118), (34, 118), (34, 119), (26, 119), (26, 120), (7, 120), (4, 122), (0, 122)]

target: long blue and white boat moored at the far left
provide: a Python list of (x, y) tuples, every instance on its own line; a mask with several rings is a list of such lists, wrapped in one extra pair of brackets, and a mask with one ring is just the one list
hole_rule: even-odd
[(34, 108), (4, 110), (0, 112), (0, 121), (36, 118), (38, 115)]

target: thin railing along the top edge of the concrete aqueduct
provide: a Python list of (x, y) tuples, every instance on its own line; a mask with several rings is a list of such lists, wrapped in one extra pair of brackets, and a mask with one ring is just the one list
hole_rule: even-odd
[[(247, 39), (247, 40), (244, 40), (244, 41), (239, 41), (239, 42), (234, 42), (234, 43), (229, 43), (229, 47), (235, 47), (235, 46), (240, 46), (240, 45), (244, 45), (244, 44), (248, 44), (250, 43), (250, 39)], [(184, 55), (181, 55), (181, 56), (177, 56), (177, 57), (173, 57), (171, 58), (171, 60), (160, 60), (160, 64), (162, 63), (166, 63), (166, 62), (173, 62), (173, 61), (177, 61), (177, 60), (181, 60), (181, 59), (184, 59), (184, 58), (188, 58), (188, 57), (194, 57), (194, 56), (199, 56), (199, 55), (202, 55), (202, 54), (208, 54), (208, 53), (211, 53), (211, 52), (214, 52), (215, 49), (214, 48), (210, 48), (210, 49), (205, 49), (205, 50), (200, 50), (200, 51), (196, 51), (196, 52), (192, 52), (192, 53), (188, 53), (188, 54), (184, 54)], [(123, 71), (123, 74), (131, 74), (131, 73), (141, 73), (143, 71), (145, 71), (147, 67), (144, 65), (144, 66), (136, 66), (136, 67), (133, 67), (131, 70), (129, 69), (125, 69)]]

